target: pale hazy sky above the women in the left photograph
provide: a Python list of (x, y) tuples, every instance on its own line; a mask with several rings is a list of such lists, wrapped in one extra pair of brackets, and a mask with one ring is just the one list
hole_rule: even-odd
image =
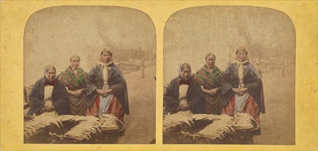
[[(127, 50), (142, 49), (156, 54), (155, 26), (139, 10), (112, 6), (58, 6), (34, 12), (24, 33), (24, 84), (34, 84), (48, 64), (63, 71), (73, 54), (89, 70), (103, 46), (115, 59)], [(131, 56), (127, 55), (127, 58)], [(126, 59), (126, 58), (125, 58)]]

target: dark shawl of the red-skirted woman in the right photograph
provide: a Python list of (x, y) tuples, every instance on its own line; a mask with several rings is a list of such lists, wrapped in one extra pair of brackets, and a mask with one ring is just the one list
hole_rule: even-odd
[[(261, 111), (261, 113), (265, 113), (263, 83), (261, 81), (261, 77), (250, 62), (246, 62), (244, 66), (246, 66), (246, 68), (244, 68), (243, 83), (248, 89), (248, 93), (250, 93), (250, 95), (254, 98), (257, 106), (259, 106), (259, 111)], [(224, 71), (221, 78), (221, 85), (223, 94), (221, 105), (226, 106), (230, 97), (234, 95), (232, 88), (238, 88), (239, 86), (237, 65), (233, 63), (228, 65), (228, 68)]]

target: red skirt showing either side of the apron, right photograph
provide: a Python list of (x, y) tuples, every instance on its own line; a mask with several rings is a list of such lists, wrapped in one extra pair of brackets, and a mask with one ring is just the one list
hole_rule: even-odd
[[(228, 104), (222, 108), (222, 114), (234, 115), (234, 109), (235, 95), (232, 95)], [(253, 99), (252, 95), (248, 96), (242, 113), (248, 113), (248, 115), (252, 116), (253, 119), (255, 119), (255, 121), (257, 122), (258, 128), (260, 128), (261, 125), (259, 122), (259, 116), (261, 115), (261, 112), (259, 111), (259, 107), (257, 106), (257, 103)]]

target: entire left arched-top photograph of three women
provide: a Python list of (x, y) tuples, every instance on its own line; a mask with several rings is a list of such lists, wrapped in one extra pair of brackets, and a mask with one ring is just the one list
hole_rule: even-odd
[(156, 32), (117, 6), (34, 12), (23, 38), (24, 143), (155, 143)]

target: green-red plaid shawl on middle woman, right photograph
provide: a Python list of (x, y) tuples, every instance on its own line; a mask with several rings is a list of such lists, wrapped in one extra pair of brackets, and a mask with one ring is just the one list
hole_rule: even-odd
[(199, 71), (197, 71), (197, 80), (199, 80), (201, 83), (206, 83), (218, 87), (221, 85), (221, 76), (223, 74), (223, 71), (221, 71), (218, 67), (215, 67), (210, 71), (206, 65), (201, 67)]

